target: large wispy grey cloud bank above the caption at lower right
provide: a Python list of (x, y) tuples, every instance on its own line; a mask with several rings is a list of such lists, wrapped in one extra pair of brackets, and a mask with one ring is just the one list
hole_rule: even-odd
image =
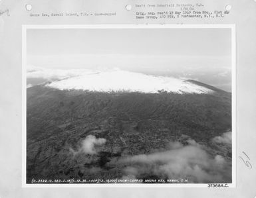
[(231, 182), (231, 164), (223, 156), (211, 156), (195, 140), (187, 143), (172, 142), (171, 150), (165, 152), (122, 158), (119, 163), (126, 164), (124, 177), (154, 175), (159, 179), (188, 179), (188, 183)]

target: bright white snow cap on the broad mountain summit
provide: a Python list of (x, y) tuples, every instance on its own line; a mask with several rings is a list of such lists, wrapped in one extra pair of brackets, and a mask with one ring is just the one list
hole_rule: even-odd
[(203, 85), (198, 85), (192, 81), (176, 79), (174, 77), (163, 77), (146, 75), (136, 72), (112, 71), (84, 73), (78, 76), (53, 81), (47, 86), (71, 90), (80, 89), (85, 91), (100, 92), (140, 92), (140, 93), (159, 93), (162, 91), (172, 93), (213, 93), (212, 89)]

